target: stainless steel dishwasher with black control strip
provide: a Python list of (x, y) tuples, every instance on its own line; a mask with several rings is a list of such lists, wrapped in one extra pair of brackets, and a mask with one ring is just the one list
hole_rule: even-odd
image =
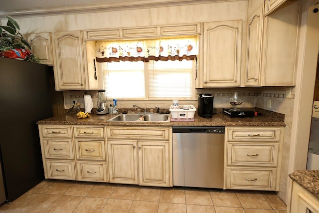
[(173, 186), (223, 188), (225, 127), (173, 127)]

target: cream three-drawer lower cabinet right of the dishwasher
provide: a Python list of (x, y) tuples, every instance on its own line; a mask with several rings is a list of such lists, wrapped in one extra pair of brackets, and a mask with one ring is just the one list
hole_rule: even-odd
[(279, 191), (283, 127), (225, 127), (224, 189)]

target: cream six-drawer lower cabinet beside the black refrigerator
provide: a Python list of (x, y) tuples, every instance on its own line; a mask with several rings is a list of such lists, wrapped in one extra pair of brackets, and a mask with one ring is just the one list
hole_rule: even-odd
[(39, 125), (46, 179), (107, 182), (104, 126)]

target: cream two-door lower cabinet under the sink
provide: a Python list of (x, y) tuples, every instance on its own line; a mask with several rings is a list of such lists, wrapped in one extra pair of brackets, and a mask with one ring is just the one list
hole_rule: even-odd
[(172, 186), (171, 129), (107, 127), (110, 183)]

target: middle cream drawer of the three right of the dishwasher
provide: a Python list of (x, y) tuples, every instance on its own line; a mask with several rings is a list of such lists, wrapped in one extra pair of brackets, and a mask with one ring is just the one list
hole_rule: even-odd
[(272, 166), (278, 164), (279, 144), (227, 144), (228, 165)]

